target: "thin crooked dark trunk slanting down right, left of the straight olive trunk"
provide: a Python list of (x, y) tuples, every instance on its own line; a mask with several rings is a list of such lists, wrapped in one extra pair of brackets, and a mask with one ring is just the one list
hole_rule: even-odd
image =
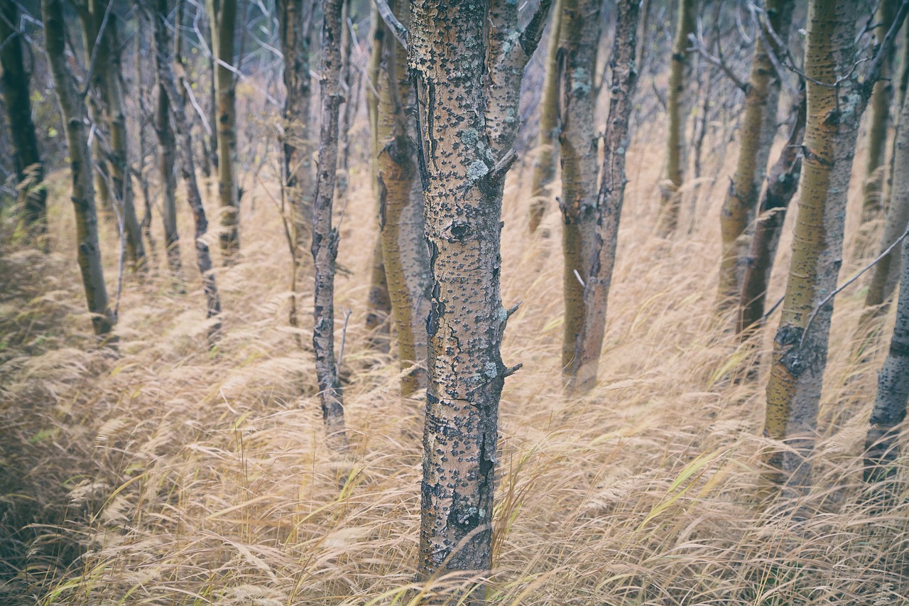
[[(167, 37), (167, 0), (155, 0), (155, 69), (158, 73), (158, 83), (165, 86), (167, 96), (179, 99), (180, 93), (176, 88), (176, 79), (171, 71)], [(149, 0), (150, 3), (150, 0)], [(193, 159), (193, 136), (183, 104), (170, 104), (171, 115), (174, 116), (177, 135), (181, 138), (180, 169), (186, 187), (186, 201), (193, 209), (195, 222), (195, 258), (202, 278), (202, 290), (205, 293), (205, 318), (213, 318), (221, 313), (221, 298), (215, 284), (215, 271), (212, 269), (212, 257), (205, 244), (205, 233), (208, 231), (208, 219), (205, 217), (205, 207), (202, 205), (202, 195), (195, 179), (195, 160)], [(217, 331), (221, 328), (220, 321), (209, 328), (209, 340), (214, 340)]]

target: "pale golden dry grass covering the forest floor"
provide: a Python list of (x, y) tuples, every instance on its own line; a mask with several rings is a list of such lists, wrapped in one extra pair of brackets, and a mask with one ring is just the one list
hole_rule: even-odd
[[(704, 179), (696, 206), (688, 188), (683, 230), (665, 240), (653, 233), (661, 163), (661, 145), (636, 142), (628, 153), (599, 383), (583, 398), (560, 387), (558, 211), (544, 223), (550, 237), (528, 237), (529, 170), (509, 177), (502, 296), (505, 307), (524, 303), (503, 359), (524, 368), (507, 379), (500, 408), (489, 601), (903, 602), (906, 495), (875, 510), (860, 491), (885, 353), (884, 344), (853, 355), (866, 280), (836, 301), (816, 485), (805, 501), (817, 513), (796, 522), (765, 512), (755, 495), (778, 316), (746, 346), (716, 318), (725, 177)], [(714, 163), (711, 177), (728, 175), (734, 154)], [(155, 216), (155, 267), (144, 280), (125, 276), (115, 351), (89, 332), (65, 172), (49, 182), (48, 254), (2, 226), (0, 601), (404, 604), (432, 591), (413, 582), (422, 396), (398, 397), (396, 362), (369, 347), (364, 326), (376, 230), (368, 170), (351, 176), (341, 223), (336, 308), (338, 318), (351, 313), (343, 374), (353, 452), (340, 462), (325, 447), (315, 398), (308, 278), (303, 347), (288, 326), (290, 258), (267, 173), (244, 196), (240, 262), (216, 268), (225, 330), (213, 350), (182, 196), (186, 292), (163, 267)], [(100, 227), (114, 298), (115, 227)], [(209, 241), (215, 249), (216, 234)], [(862, 265), (846, 258), (841, 279)], [(782, 273), (769, 304), (782, 295)], [(746, 379), (750, 364), (757, 379)]]

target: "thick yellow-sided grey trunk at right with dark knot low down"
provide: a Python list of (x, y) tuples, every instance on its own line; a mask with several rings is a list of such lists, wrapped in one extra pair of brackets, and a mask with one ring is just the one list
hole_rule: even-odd
[[(901, 15), (902, 16), (902, 15)], [(805, 49), (808, 116), (801, 200), (783, 315), (774, 339), (764, 435), (787, 449), (766, 456), (765, 480), (799, 495), (810, 485), (833, 299), (842, 265), (845, 204), (859, 121), (876, 74), (837, 77), (854, 69), (851, 0), (811, 0)], [(874, 65), (874, 64), (873, 64)], [(820, 83), (820, 84), (818, 84)]]

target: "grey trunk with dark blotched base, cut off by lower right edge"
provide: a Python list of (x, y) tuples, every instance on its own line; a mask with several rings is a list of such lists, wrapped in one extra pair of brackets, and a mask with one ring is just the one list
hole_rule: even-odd
[[(905, 105), (905, 104), (904, 104)], [(898, 449), (899, 426), (909, 399), (909, 241), (904, 242), (896, 324), (884, 366), (877, 376), (877, 396), (871, 412), (871, 429), (865, 438), (864, 480), (890, 480)]]

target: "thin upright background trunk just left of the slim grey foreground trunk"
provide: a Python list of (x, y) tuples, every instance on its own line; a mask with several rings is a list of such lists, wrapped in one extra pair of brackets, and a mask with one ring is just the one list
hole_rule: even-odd
[[(285, 197), (291, 202), (294, 221), (295, 272), (291, 295), (290, 325), (298, 327), (297, 283), (306, 264), (306, 244), (313, 240), (313, 126), (310, 102), (309, 47), (315, 4), (304, 0), (279, 0), (281, 50), (284, 53), (284, 166)], [(306, 264), (308, 265), (308, 264)]]

